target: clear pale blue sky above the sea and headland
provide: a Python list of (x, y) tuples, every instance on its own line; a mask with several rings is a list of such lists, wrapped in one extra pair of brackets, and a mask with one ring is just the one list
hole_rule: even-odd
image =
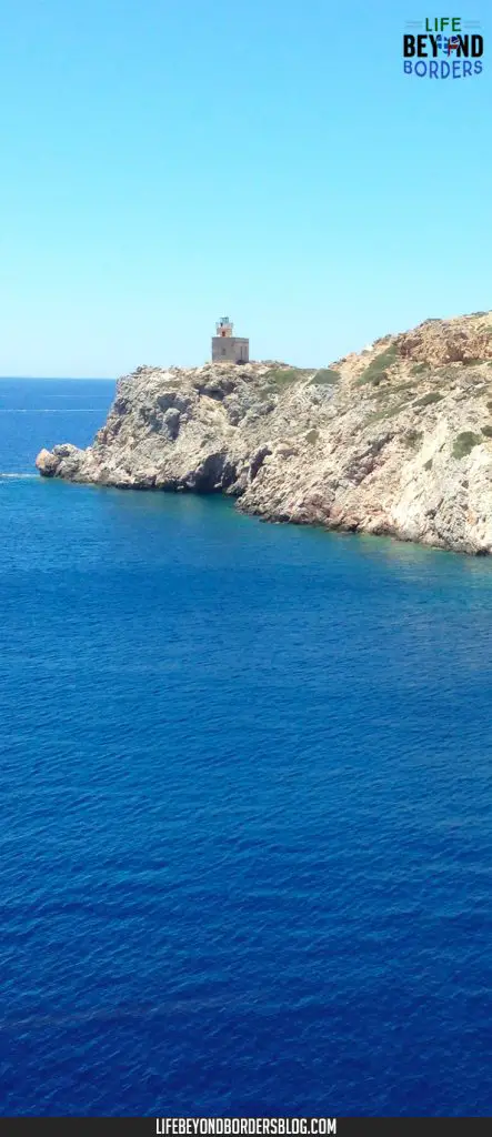
[(422, 0), (1, 0), (0, 374), (322, 365), (492, 308), (484, 73), (403, 75)]

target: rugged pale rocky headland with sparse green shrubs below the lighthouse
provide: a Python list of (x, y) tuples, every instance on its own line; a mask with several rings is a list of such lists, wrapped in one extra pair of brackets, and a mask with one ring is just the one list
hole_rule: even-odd
[(139, 367), (44, 476), (224, 491), (272, 521), (492, 551), (492, 313), (426, 321), (323, 371)]

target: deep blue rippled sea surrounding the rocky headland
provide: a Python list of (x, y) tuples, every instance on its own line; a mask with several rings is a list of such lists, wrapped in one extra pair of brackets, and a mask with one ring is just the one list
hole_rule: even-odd
[(0, 1111), (490, 1115), (492, 563), (35, 475), (0, 381)]

